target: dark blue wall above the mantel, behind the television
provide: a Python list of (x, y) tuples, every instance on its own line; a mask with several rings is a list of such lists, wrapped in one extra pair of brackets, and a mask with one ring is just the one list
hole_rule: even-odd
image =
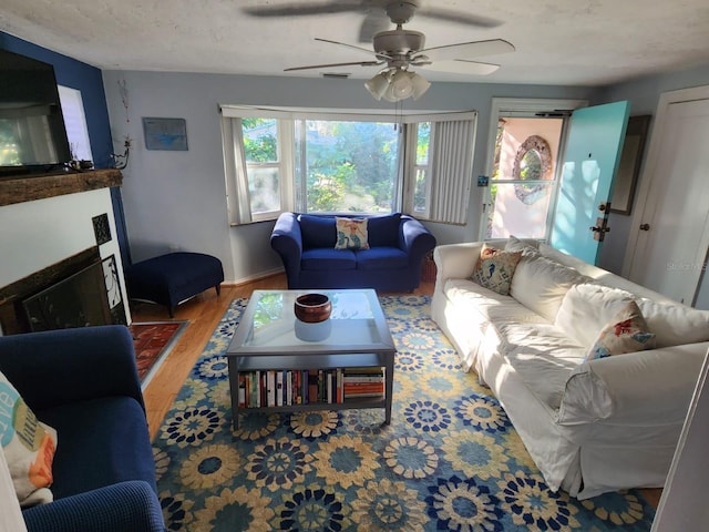
[(94, 165), (112, 167), (113, 141), (101, 70), (4, 32), (0, 32), (0, 48), (52, 64), (56, 83), (81, 91)]

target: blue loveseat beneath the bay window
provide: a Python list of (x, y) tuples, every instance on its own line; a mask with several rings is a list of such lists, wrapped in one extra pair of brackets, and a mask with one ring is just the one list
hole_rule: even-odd
[[(352, 215), (338, 215), (352, 216)], [(284, 213), (271, 247), (280, 255), (288, 288), (373, 288), (411, 291), (435, 237), (418, 219), (400, 213), (367, 216), (369, 249), (336, 249), (335, 215)]]

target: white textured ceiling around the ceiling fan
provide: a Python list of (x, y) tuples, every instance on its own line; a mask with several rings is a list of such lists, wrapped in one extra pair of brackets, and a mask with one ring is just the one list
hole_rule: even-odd
[[(361, 12), (254, 17), (245, 9), (330, 6), (351, 0), (2, 0), (0, 29), (105, 70), (152, 70), (320, 76), (288, 66), (373, 59), (319, 37), (359, 42), (367, 12), (387, 0), (362, 0)], [(485, 39), (512, 42), (514, 53), (475, 58), (497, 63), (486, 76), (425, 71), (431, 81), (602, 85), (644, 74), (709, 64), (709, 1), (419, 0), (404, 29), (427, 47)], [(445, 9), (500, 22), (484, 28), (424, 16)], [(390, 29), (393, 29), (391, 27)], [(366, 79), (376, 66), (328, 69)]]

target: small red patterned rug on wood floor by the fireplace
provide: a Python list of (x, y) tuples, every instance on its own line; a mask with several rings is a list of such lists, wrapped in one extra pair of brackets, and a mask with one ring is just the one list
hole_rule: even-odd
[(137, 376), (145, 388), (165, 360), (169, 350), (187, 327), (188, 321), (144, 321), (129, 327), (135, 347)]

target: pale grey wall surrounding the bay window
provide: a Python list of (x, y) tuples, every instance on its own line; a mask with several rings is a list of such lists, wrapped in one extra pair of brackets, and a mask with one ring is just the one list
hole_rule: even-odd
[[(104, 71), (103, 79), (115, 151), (123, 151), (125, 135), (133, 139), (122, 187), (133, 260), (171, 249), (208, 253), (224, 263), (227, 282), (278, 270), (281, 263), (270, 249), (273, 222), (228, 226), (218, 104), (394, 111), (393, 104), (373, 100), (361, 80), (134, 71)], [(127, 98), (122, 98), (119, 83), (124, 83)], [(589, 99), (590, 92), (587, 88), (433, 83), (421, 100), (407, 100), (403, 106), (477, 110), (476, 176), (484, 173), (493, 96)], [(185, 119), (188, 151), (146, 150), (141, 119), (147, 116)], [(476, 239), (480, 198), (480, 190), (473, 186), (464, 226), (427, 224), (439, 243)]]

